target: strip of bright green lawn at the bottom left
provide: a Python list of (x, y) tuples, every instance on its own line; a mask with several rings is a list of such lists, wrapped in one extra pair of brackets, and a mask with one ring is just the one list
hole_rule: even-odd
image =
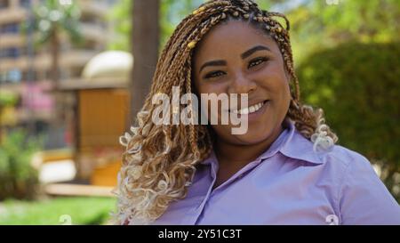
[(52, 198), (0, 202), (0, 225), (104, 224), (116, 207), (115, 198)]

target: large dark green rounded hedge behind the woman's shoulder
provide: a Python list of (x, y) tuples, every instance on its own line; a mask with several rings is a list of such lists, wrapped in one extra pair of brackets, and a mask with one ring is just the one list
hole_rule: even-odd
[(400, 171), (399, 56), (398, 42), (353, 42), (311, 54), (297, 69), (303, 100), (324, 109), (341, 145), (384, 162), (389, 189)]

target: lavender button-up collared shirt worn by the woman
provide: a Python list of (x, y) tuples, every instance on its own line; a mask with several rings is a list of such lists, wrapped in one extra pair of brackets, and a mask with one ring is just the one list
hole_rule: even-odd
[(400, 224), (400, 207), (366, 158), (339, 145), (315, 152), (292, 124), (212, 190), (217, 171), (212, 152), (188, 196), (154, 224)]

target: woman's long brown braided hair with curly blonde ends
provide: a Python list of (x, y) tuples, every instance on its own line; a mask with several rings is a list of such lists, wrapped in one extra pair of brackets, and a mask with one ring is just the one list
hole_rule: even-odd
[[(275, 18), (283, 18), (286, 28)], [(315, 111), (300, 103), (289, 20), (278, 12), (261, 11), (250, 0), (209, 1), (182, 20), (166, 43), (150, 92), (137, 115), (139, 126), (132, 127), (132, 134), (126, 133), (121, 138), (126, 150), (117, 186), (116, 223), (151, 223), (163, 215), (172, 201), (186, 197), (196, 164), (210, 155), (212, 136), (206, 126), (153, 125), (151, 117), (156, 105), (152, 104), (152, 97), (156, 93), (172, 97), (172, 86), (180, 86), (180, 93), (193, 93), (191, 61), (196, 44), (212, 27), (231, 19), (248, 21), (276, 40), (291, 77), (292, 101), (286, 117), (294, 122), (300, 134), (312, 140), (313, 135), (324, 133), (333, 142), (337, 141), (336, 135), (324, 125), (322, 109)]]

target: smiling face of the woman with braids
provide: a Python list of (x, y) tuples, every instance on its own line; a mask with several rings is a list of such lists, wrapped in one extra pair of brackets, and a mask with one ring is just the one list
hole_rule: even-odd
[(232, 134), (237, 126), (230, 122), (221, 125), (218, 109), (219, 124), (212, 129), (219, 139), (249, 145), (280, 131), (291, 99), (289, 78), (278, 45), (265, 33), (239, 20), (212, 28), (196, 47), (193, 76), (197, 94), (248, 94), (247, 133)]

